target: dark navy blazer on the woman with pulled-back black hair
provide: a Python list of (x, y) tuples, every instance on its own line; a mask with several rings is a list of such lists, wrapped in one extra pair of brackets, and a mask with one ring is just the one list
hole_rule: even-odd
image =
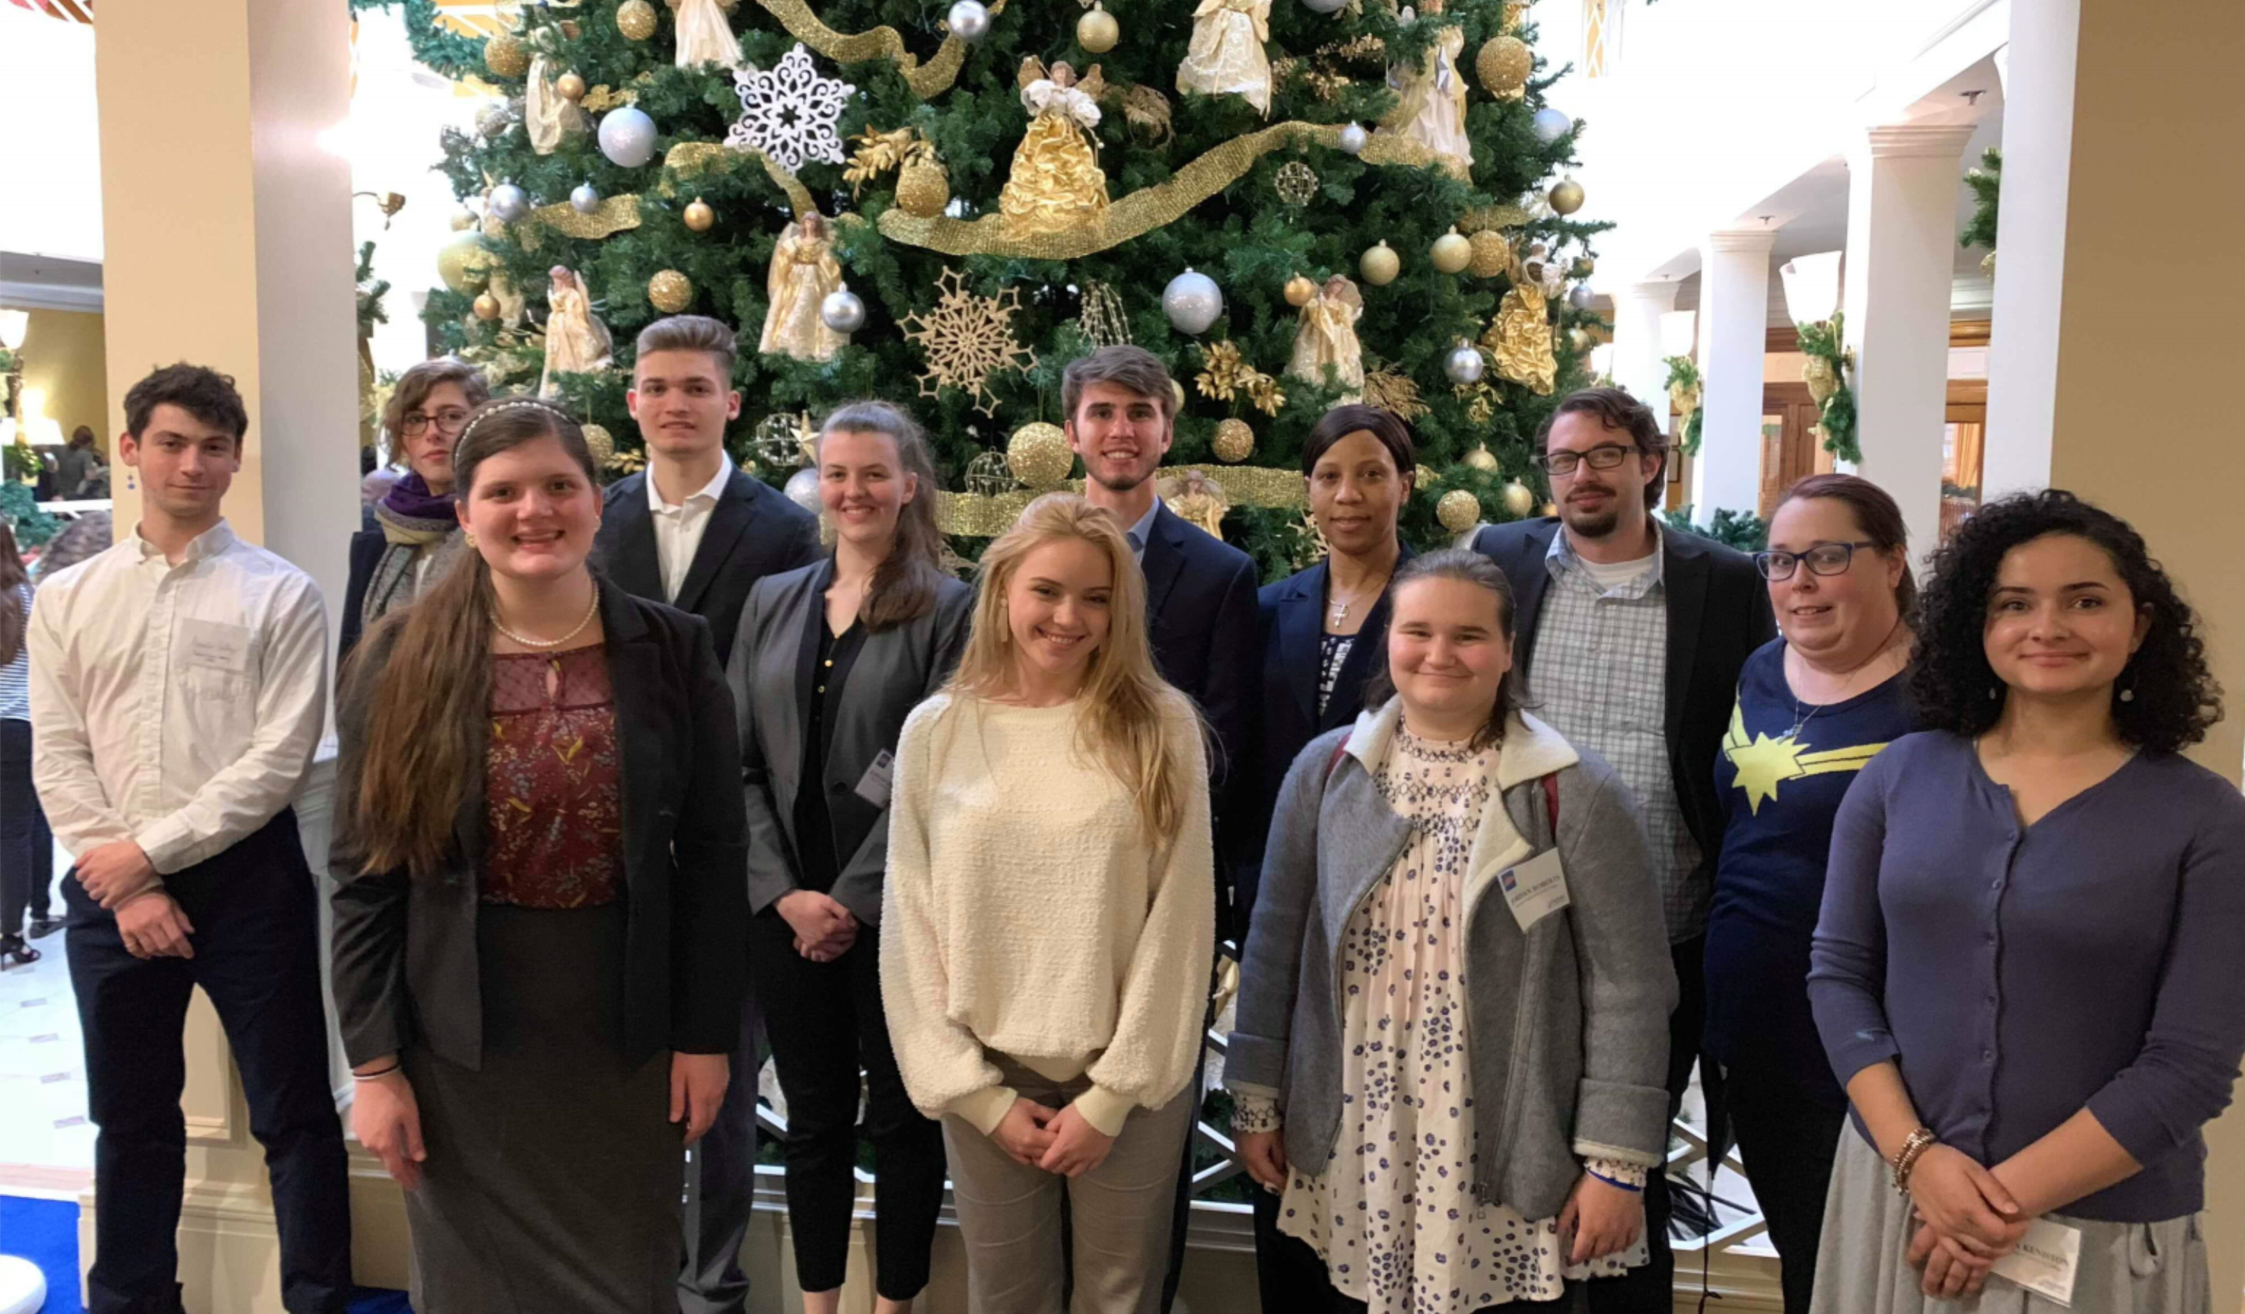
[[(1410, 544), (1399, 544), (1396, 568), (1417, 553)], [(1325, 580), (1327, 564), (1318, 562), (1307, 571), (1264, 584), (1255, 597), (1257, 638), (1262, 654), (1262, 748), (1253, 770), (1248, 809), (1248, 831), (1253, 842), (1239, 851), (1233, 885), (1239, 892), (1239, 946), (1246, 948), (1246, 921), (1255, 912), (1255, 894), (1262, 887), (1264, 840), (1271, 836), (1271, 811), (1277, 806), (1277, 788), (1286, 782), (1286, 768), (1302, 748), (1327, 730), (1349, 726), (1365, 710), (1365, 681), (1387, 660), (1387, 588), (1365, 613), (1356, 645), (1340, 663), (1334, 681), (1334, 696), (1318, 712), (1318, 651), (1325, 642)]]

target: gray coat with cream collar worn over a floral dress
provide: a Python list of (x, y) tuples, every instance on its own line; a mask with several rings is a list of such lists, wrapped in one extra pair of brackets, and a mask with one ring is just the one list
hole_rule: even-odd
[[(1277, 1096), (1289, 1164), (1325, 1164), (1340, 1128), (1340, 937), (1410, 840), (1367, 768), (1399, 717), (1390, 701), (1311, 739), (1271, 818), (1226, 1085)], [(1554, 845), (1542, 775), (1558, 782), (1572, 905), (1522, 932), (1497, 885)], [(1464, 896), (1473, 1190), (1533, 1220), (1560, 1211), (1583, 1159), (1664, 1161), (1677, 982), (1621, 777), (1522, 717), (1504, 737), (1497, 786), (1504, 813), (1482, 818)]]

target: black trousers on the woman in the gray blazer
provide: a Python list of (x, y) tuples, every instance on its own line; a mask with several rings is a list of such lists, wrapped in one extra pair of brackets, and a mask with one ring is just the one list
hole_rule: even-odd
[(873, 1289), (911, 1301), (927, 1287), (943, 1208), (943, 1125), (911, 1107), (896, 1071), (880, 1009), (880, 930), (860, 928), (849, 952), (815, 964), (795, 952), (792, 928), (768, 907), (750, 923), (748, 961), (788, 1096), (795, 1280), (804, 1292), (833, 1292), (849, 1267), (862, 1067), (864, 1139), (873, 1146)]

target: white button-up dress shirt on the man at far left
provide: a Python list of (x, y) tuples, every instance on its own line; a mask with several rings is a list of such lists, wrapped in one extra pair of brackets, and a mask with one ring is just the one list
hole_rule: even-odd
[(135, 532), (38, 591), (31, 777), (76, 856), (135, 840), (159, 874), (213, 858), (303, 786), (328, 723), (312, 577), (224, 521), (177, 566)]

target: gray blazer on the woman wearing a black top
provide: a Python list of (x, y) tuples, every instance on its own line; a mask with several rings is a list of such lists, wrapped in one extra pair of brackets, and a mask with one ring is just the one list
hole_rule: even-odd
[[(734, 717), (741, 728), (741, 788), (748, 800), (748, 905), (763, 912), (797, 887), (795, 797), (804, 788), (804, 712), (810, 654), (804, 636), (826, 609), (833, 557), (766, 575), (748, 593), (732, 645)], [(835, 714), (826, 721), (826, 779), (835, 856), (842, 872), (828, 894), (864, 925), (880, 925), (880, 885), (889, 867), (889, 802), (858, 793), (867, 770), (896, 752), (896, 739), (929, 694), (943, 687), (968, 642), (974, 588), (943, 580), (936, 606), (918, 620), (864, 636)]]

